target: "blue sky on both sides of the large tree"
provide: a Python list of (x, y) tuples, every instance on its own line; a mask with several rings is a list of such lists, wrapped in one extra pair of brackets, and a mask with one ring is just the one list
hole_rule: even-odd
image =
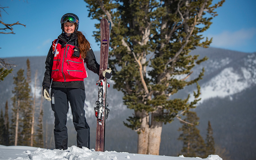
[[(213, 3), (218, 0), (213, 0)], [(5, 12), (2, 21), (26, 25), (13, 26), (15, 34), (0, 34), (0, 58), (23, 56), (46, 56), (51, 43), (61, 33), (60, 18), (63, 14), (75, 13), (80, 20), (79, 29), (84, 31), (94, 51), (100, 47), (92, 37), (97, 20), (88, 18), (83, 0), (4, 0), (0, 2)], [(256, 1), (226, 0), (218, 8), (211, 27), (204, 36), (213, 37), (212, 47), (240, 52), (256, 52)], [(3, 28), (3, 25), (0, 26)]]

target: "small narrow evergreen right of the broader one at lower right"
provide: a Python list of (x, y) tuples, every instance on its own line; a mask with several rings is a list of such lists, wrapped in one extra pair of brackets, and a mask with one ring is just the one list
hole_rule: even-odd
[(215, 143), (213, 138), (213, 130), (210, 121), (208, 121), (208, 128), (207, 128), (207, 136), (206, 136), (206, 154), (205, 156), (214, 155), (215, 154)]

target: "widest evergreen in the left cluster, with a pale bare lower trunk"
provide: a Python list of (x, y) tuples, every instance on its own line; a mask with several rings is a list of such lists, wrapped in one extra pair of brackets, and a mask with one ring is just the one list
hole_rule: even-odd
[[(30, 100), (30, 88), (27, 80), (24, 77), (24, 70), (20, 69), (17, 72), (17, 77), (14, 77), (14, 96), (13, 100), (13, 116), (12, 122), (12, 140), (14, 145), (27, 145), (30, 144), (31, 133), (31, 100)], [(15, 131), (13, 131), (15, 129)], [(21, 132), (20, 132), (21, 131)], [(15, 135), (13, 134), (15, 133)], [(20, 136), (21, 138), (19, 138)]]

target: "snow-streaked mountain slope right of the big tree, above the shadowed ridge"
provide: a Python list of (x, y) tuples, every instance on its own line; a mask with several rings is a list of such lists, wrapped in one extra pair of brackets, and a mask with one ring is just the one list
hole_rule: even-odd
[[(216, 53), (208, 53), (212, 49)], [(256, 54), (244, 54), (234, 52), (227, 54), (218, 52), (220, 49), (199, 48), (192, 52), (209, 57), (209, 60), (202, 63), (198, 67), (205, 68), (206, 80), (201, 84), (202, 103), (210, 98), (225, 98), (232, 99), (232, 95), (242, 92), (256, 84)], [(224, 50), (225, 51), (225, 50)], [(230, 51), (227, 51), (230, 52)], [(219, 56), (216, 56), (219, 55)], [(228, 57), (226, 57), (228, 56)], [(222, 59), (221, 59), (222, 57)], [(197, 67), (197, 69), (198, 69)], [(210, 77), (210, 78), (208, 78)]]

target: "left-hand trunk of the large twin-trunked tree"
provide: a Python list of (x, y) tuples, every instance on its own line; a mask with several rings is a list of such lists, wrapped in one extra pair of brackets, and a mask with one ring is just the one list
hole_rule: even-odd
[[(143, 112), (136, 112), (136, 115), (140, 115), (141, 117), (141, 125), (140, 125), (140, 134), (138, 134), (138, 154), (147, 154), (148, 153), (148, 134), (149, 134), (149, 116), (148, 114)], [(139, 116), (138, 115), (138, 116)]]

